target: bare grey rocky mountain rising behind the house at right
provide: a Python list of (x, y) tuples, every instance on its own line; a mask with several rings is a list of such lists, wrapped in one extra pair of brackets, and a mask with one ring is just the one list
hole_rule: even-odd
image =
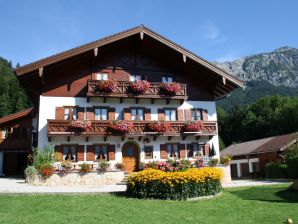
[(275, 86), (298, 87), (298, 49), (281, 47), (232, 62), (214, 62), (244, 81), (267, 81)]

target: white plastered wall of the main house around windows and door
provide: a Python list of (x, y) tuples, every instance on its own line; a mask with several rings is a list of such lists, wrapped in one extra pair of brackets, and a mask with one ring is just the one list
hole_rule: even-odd
[[(178, 100), (172, 100), (170, 104), (166, 104), (165, 100), (155, 100), (154, 104), (151, 104), (150, 100), (140, 99), (138, 104), (135, 104), (135, 99), (124, 99), (123, 103), (120, 104), (119, 99), (107, 99), (106, 103), (103, 102), (102, 98), (94, 97), (90, 98), (87, 102), (85, 97), (50, 97), (50, 96), (40, 96), (39, 102), (39, 119), (38, 119), (38, 146), (43, 148), (48, 144), (61, 145), (61, 144), (80, 144), (85, 145), (85, 161), (86, 161), (86, 150), (87, 145), (93, 144), (115, 144), (116, 145), (116, 155), (115, 161), (111, 163), (122, 161), (122, 146), (128, 142), (133, 141), (138, 144), (140, 151), (140, 161), (146, 162), (150, 160), (144, 159), (144, 143), (143, 141), (138, 141), (138, 137), (125, 137), (124, 141), (121, 140), (119, 136), (108, 136), (107, 141), (104, 141), (103, 136), (89, 137), (88, 142), (86, 142), (83, 136), (71, 136), (70, 141), (67, 141), (65, 136), (55, 136), (51, 138), (51, 142), (48, 141), (47, 136), (47, 119), (55, 119), (55, 109), (56, 107), (62, 106), (80, 106), (92, 107), (92, 106), (109, 106), (115, 108), (115, 118), (123, 119), (123, 108), (127, 107), (147, 107), (151, 109), (151, 120), (158, 120), (158, 108), (179, 108), (179, 109), (190, 109), (190, 108), (203, 108), (208, 111), (208, 121), (217, 121), (216, 106), (214, 101), (185, 101), (182, 105)], [(86, 116), (86, 113), (85, 113)], [(219, 144), (218, 144), (218, 134), (213, 136), (209, 140), (208, 137), (202, 137), (196, 140), (195, 137), (187, 137), (185, 140), (179, 137), (173, 137), (168, 140), (167, 137), (158, 137), (157, 140), (153, 140), (150, 137), (150, 143), (146, 143), (146, 146), (153, 146), (153, 160), (160, 160), (160, 144), (165, 143), (192, 143), (192, 142), (206, 142), (213, 145), (216, 155), (214, 158), (219, 158)], [(151, 159), (152, 160), (152, 159)]]

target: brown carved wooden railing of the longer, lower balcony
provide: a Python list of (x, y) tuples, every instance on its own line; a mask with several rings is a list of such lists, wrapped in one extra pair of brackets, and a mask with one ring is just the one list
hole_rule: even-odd
[[(132, 121), (133, 129), (127, 135), (146, 135), (146, 134), (157, 134), (152, 131), (148, 131), (147, 124), (150, 121)], [(180, 134), (193, 134), (193, 135), (216, 135), (216, 122), (215, 121), (202, 121), (203, 130), (201, 132), (184, 132), (185, 121), (172, 121), (171, 128), (166, 133), (159, 133), (162, 135), (180, 135)], [(111, 121), (91, 121), (91, 127), (87, 128), (86, 131), (77, 132), (71, 126), (71, 122), (68, 120), (48, 120), (48, 135), (113, 135), (109, 131), (109, 125)]]

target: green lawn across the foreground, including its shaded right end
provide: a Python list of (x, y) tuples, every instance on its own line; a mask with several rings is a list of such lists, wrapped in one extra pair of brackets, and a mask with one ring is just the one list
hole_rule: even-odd
[(115, 195), (0, 195), (0, 223), (298, 223), (298, 193), (288, 185), (226, 189), (202, 201)]

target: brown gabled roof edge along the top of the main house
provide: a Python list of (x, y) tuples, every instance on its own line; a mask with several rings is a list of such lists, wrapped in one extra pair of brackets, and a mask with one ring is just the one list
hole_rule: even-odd
[(21, 66), (21, 67), (19, 67), (15, 70), (15, 73), (16, 73), (17, 76), (22, 76), (22, 75), (25, 75), (29, 72), (36, 71), (39, 68), (49, 66), (49, 65), (57, 63), (61, 60), (68, 59), (70, 57), (82, 54), (82, 53), (87, 52), (87, 51), (94, 50), (95, 48), (99, 48), (99, 47), (102, 47), (104, 45), (110, 44), (112, 42), (127, 38), (127, 37), (132, 36), (132, 35), (140, 34), (140, 33), (143, 33), (144, 38), (146, 38), (146, 35), (154, 38), (155, 40), (157, 40), (157, 41), (163, 43), (164, 45), (166, 45), (166, 46), (176, 50), (177, 52), (181, 53), (181, 57), (182, 57), (182, 55), (185, 55), (187, 58), (190, 58), (190, 59), (194, 60), (195, 62), (199, 63), (200, 65), (205, 66), (206, 68), (208, 68), (209, 70), (215, 72), (216, 74), (226, 78), (227, 80), (230, 80), (235, 85), (242, 86), (242, 87), (244, 86), (244, 82), (241, 81), (240, 79), (232, 76), (231, 74), (227, 73), (226, 71), (216, 67), (215, 65), (207, 62), (206, 60), (202, 59), (198, 55), (186, 50), (185, 48), (179, 46), (178, 44), (170, 41), (169, 39), (161, 36), (160, 34), (152, 31), (151, 29), (149, 29), (149, 28), (147, 28), (143, 25), (140, 25), (138, 27), (134, 27), (134, 28), (125, 30), (123, 32), (120, 32), (120, 33), (117, 33), (117, 34), (114, 34), (114, 35), (111, 35), (111, 36), (104, 37), (102, 39), (90, 42), (88, 44), (84, 44), (84, 45), (81, 45), (79, 47), (72, 48), (70, 50), (63, 51), (61, 53), (55, 54), (53, 56), (50, 56), (50, 57), (47, 57), (47, 58), (32, 62), (30, 64)]

